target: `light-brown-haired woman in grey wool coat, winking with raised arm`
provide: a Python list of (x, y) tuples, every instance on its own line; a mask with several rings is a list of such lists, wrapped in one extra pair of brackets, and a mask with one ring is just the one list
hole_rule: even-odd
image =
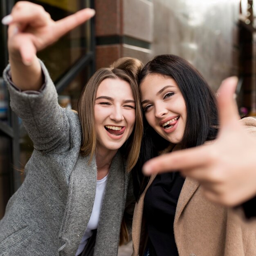
[(11, 107), (34, 143), (25, 180), (0, 221), (0, 255), (117, 255), (128, 238), (134, 200), (129, 171), (139, 155), (142, 113), (137, 73), (123, 58), (98, 70), (78, 101), (78, 115), (58, 105), (36, 51), (91, 16), (82, 10), (54, 22), (20, 1), (9, 24), (4, 71)]

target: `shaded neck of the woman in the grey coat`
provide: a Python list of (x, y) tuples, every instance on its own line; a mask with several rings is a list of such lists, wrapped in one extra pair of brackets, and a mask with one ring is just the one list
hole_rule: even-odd
[(117, 150), (102, 150), (97, 148), (96, 164), (97, 164), (97, 180), (103, 179), (108, 174), (112, 159), (116, 155)]

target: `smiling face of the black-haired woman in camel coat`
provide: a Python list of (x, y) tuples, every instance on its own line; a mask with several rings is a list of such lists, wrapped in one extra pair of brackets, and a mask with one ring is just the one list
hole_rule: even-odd
[(182, 141), (186, 104), (174, 79), (148, 74), (140, 84), (141, 105), (148, 124), (174, 144)]

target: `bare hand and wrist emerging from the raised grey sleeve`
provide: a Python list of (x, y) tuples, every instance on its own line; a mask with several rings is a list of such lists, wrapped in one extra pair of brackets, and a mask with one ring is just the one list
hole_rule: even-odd
[(22, 91), (39, 90), (43, 76), (36, 52), (89, 20), (94, 13), (87, 8), (55, 22), (42, 6), (17, 2), (11, 14), (2, 19), (4, 25), (9, 25), (8, 50), (13, 83)]

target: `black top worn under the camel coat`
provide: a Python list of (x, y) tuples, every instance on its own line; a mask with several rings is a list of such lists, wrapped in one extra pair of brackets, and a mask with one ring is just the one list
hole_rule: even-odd
[(164, 173), (155, 177), (144, 198), (144, 214), (148, 228), (150, 256), (178, 256), (173, 222), (184, 178), (180, 173)]

